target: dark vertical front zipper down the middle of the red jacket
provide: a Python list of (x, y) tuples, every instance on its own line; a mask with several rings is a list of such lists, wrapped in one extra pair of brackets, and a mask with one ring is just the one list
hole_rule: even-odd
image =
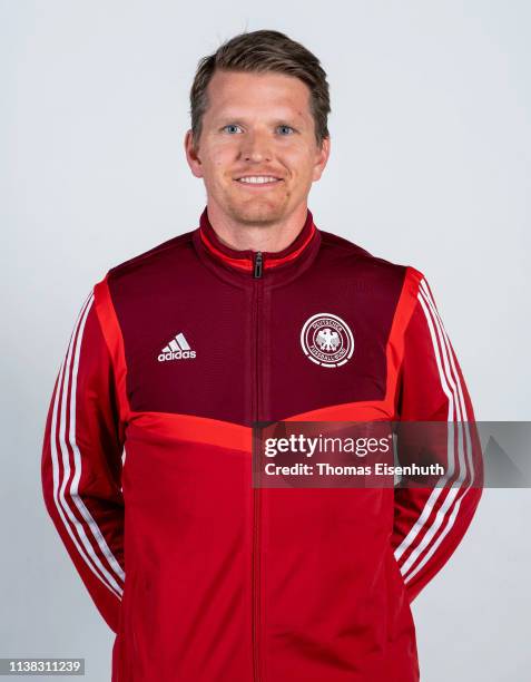
[[(260, 389), (260, 368), (259, 368), (259, 299), (260, 299), (260, 281), (263, 274), (263, 256), (262, 252), (258, 251), (255, 254), (254, 262), (254, 290), (255, 290), (255, 348), (254, 348), (254, 362), (255, 362), (255, 415), (253, 416), (255, 421), (259, 420), (260, 406), (259, 406), (259, 389)], [(253, 678), (254, 682), (259, 682), (259, 662), (258, 662), (258, 649), (259, 649), (259, 614), (260, 614), (260, 572), (259, 572), (259, 503), (260, 503), (260, 489), (253, 488), (253, 568), (252, 568), (252, 595), (253, 595)]]

